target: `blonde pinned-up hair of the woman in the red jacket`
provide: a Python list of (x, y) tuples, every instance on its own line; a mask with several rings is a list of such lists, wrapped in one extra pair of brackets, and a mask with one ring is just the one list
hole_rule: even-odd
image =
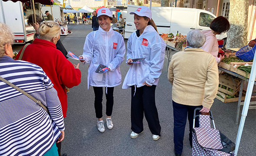
[(51, 41), (53, 37), (58, 37), (60, 34), (60, 26), (58, 23), (54, 21), (47, 21), (51, 26), (46, 25), (45, 23), (41, 23), (38, 28), (39, 39), (44, 39), (47, 41)]

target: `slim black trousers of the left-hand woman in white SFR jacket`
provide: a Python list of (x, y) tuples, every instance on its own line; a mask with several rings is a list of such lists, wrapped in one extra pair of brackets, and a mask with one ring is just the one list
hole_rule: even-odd
[[(94, 107), (95, 113), (97, 118), (102, 118), (102, 97), (103, 97), (103, 87), (93, 87), (95, 100), (94, 100)], [(106, 91), (107, 90), (107, 91)], [(108, 94), (107, 94), (108, 93)], [(105, 95), (106, 95), (106, 115), (111, 116), (113, 105), (114, 105), (114, 87), (105, 88)]]

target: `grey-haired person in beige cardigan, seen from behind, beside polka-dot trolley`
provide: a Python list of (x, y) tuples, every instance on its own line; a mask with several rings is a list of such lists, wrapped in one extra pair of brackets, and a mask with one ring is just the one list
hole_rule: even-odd
[[(218, 91), (217, 62), (213, 55), (201, 49), (205, 40), (200, 30), (191, 30), (187, 34), (187, 48), (172, 56), (168, 68), (168, 80), (172, 84), (175, 156), (181, 156), (183, 150), (187, 118), (192, 147), (194, 109), (202, 107), (200, 112), (208, 113)], [(195, 127), (199, 127), (198, 118)]]

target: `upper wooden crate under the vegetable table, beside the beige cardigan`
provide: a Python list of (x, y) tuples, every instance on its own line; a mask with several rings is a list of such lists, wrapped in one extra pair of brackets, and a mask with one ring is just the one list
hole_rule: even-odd
[(241, 79), (237, 80), (230, 76), (219, 75), (218, 91), (234, 96), (240, 89)]

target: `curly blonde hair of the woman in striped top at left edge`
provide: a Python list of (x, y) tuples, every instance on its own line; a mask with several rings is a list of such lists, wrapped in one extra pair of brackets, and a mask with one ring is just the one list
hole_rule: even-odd
[(3, 57), (5, 52), (4, 46), (7, 44), (13, 44), (14, 35), (9, 26), (4, 23), (0, 23), (0, 58)]

